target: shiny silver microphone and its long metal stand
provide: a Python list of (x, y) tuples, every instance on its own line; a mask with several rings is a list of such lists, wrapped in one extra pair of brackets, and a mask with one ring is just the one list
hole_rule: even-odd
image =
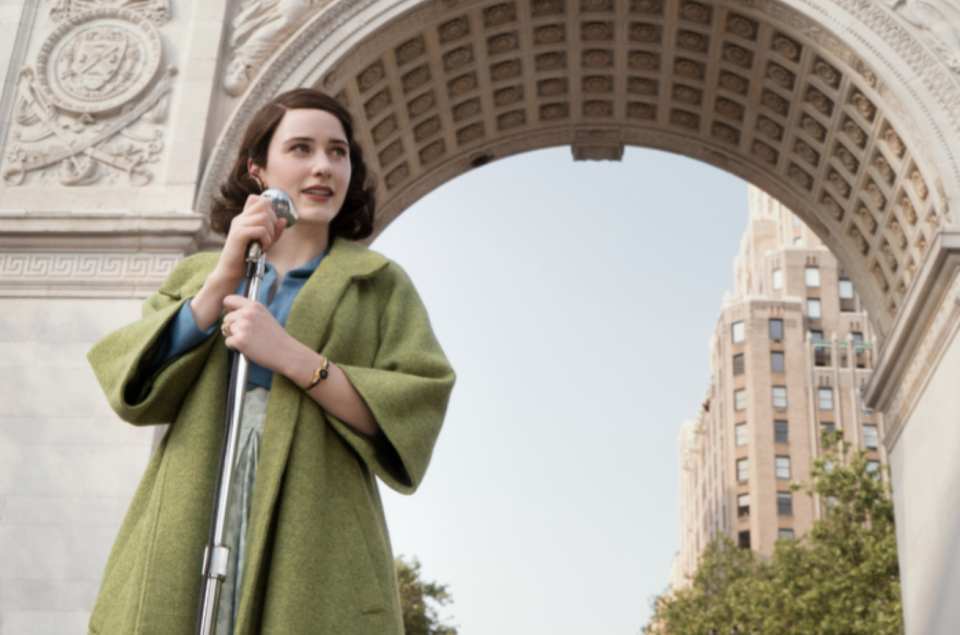
[[(287, 227), (297, 220), (293, 201), (282, 190), (270, 189), (261, 196), (273, 205), (278, 218), (287, 219)], [(266, 254), (258, 241), (247, 246), (245, 297), (258, 302), (263, 274), (266, 269)], [(250, 360), (237, 351), (233, 356), (230, 371), (230, 387), (227, 391), (227, 410), (224, 417), (223, 443), (220, 447), (220, 465), (217, 471), (217, 486), (214, 490), (213, 518), (210, 536), (203, 552), (203, 582), (200, 592), (200, 610), (197, 615), (197, 635), (213, 635), (217, 624), (217, 607), (220, 604), (220, 588), (227, 578), (230, 548), (223, 544), (227, 533), (227, 515), (230, 510), (230, 490), (236, 470), (240, 445), (240, 418), (243, 415), (243, 400), (247, 392), (247, 377)]]

